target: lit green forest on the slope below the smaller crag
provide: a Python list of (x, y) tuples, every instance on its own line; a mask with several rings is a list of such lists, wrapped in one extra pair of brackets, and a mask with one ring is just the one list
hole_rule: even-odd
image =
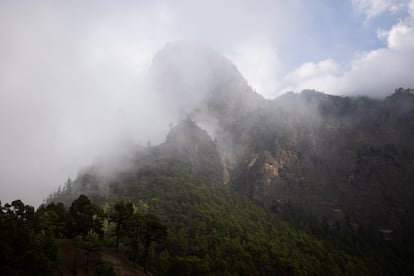
[(168, 225), (167, 240), (155, 247), (151, 259), (151, 270), (158, 274), (397, 274), (392, 252), (364, 256), (373, 251), (362, 246), (356, 254), (359, 243), (351, 240), (353, 250), (347, 250), (345, 242), (286, 223), (231, 189), (212, 188), (188, 175), (152, 173), (117, 191), (157, 212)]

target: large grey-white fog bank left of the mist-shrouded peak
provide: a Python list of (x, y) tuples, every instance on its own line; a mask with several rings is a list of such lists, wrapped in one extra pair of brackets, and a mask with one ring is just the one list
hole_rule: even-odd
[(142, 79), (174, 20), (163, 5), (2, 2), (1, 201), (38, 204), (125, 140), (164, 138)]

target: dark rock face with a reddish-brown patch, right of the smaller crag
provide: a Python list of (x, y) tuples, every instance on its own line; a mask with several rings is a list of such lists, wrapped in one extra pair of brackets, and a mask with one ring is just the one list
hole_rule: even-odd
[(254, 123), (240, 142), (250, 150), (231, 173), (240, 192), (268, 206), (290, 202), (380, 232), (413, 229), (410, 91), (383, 101), (305, 91), (250, 116)]

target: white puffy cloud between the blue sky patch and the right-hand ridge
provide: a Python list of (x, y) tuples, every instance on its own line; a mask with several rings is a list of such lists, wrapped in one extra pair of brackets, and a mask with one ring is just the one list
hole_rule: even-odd
[(388, 31), (380, 31), (386, 47), (359, 53), (345, 64), (332, 59), (305, 63), (280, 76), (278, 93), (316, 89), (331, 94), (384, 97), (398, 87), (414, 87), (413, 3), (408, 18)]

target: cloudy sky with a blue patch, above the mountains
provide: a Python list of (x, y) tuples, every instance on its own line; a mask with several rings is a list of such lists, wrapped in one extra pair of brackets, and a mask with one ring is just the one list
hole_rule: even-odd
[(0, 201), (39, 204), (120, 143), (161, 142), (143, 85), (188, 40), (266, 98), (414, 87), (414, 0), (0, 1)]

